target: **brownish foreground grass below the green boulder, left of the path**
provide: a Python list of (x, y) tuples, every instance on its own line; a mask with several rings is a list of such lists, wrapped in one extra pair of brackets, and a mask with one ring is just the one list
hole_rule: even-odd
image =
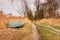
[(30, 40), (30, 24), (23, 28), (7, 28), (0, 30), (0, 40)]

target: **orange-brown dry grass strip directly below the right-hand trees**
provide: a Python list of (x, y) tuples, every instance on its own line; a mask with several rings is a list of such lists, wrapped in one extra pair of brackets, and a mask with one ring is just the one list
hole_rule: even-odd
[(48, 18), (40, 20), (41, 23), (60, 25), (60, 18)]

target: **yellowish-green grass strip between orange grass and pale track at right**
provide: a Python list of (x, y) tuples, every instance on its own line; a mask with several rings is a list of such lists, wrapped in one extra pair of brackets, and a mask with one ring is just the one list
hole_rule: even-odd
[(53, 28), (55, 28), (57, 30), (60, 30), (60, 25), (57, 25), (57, 24), (53, 24), (53, 23), (41, 23), (41, 22), (39, 22), (39, 20), (34, 21), (34, 23), (37, 24), (37, 25), (43, 26), (43, 27), (50, 26), (50, 27), (53, 27)]

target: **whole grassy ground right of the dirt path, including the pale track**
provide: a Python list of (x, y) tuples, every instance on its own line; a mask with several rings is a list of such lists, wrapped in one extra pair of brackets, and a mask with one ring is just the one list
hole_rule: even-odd
[(42, 34), (42, 40), (60, 40), (60, 19), (49, 18), (34, 21)]

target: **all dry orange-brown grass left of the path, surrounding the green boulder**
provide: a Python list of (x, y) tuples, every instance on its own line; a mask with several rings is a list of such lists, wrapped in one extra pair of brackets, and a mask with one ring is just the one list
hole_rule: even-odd
[[(22, 28), (8, 28), (9, 21), (23, 20), (25, 26)], [(31, 27), (29, 19), (24, 17), (0, 16), (0, 40), (30, 40)]]

